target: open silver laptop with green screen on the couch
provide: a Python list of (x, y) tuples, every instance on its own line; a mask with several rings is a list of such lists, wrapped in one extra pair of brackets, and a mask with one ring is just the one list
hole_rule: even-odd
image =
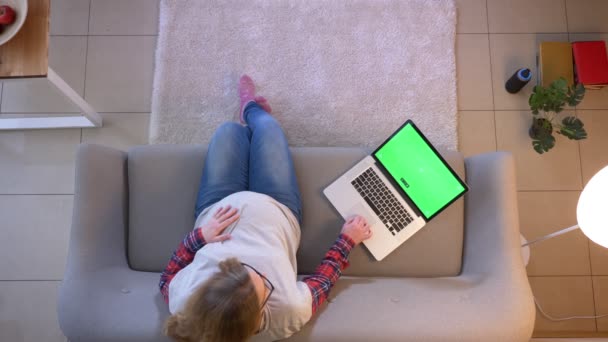
[(323, 193), (344, 219), (367, 219), (373, 235), (363, 244), (382, 260), (467, 191), (408, 120)]

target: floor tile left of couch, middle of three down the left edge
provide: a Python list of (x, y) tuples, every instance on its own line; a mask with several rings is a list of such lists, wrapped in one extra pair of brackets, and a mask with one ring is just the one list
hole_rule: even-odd
[(0, 195), (0, 280), (63, 279), (72, 202), (73, 195)]

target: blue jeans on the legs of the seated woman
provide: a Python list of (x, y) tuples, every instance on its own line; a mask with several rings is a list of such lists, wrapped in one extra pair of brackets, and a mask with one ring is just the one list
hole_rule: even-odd
[(213, 134), (196, 200), (195, 218), (240, 191), (266, 194), (291, 209), (302, 223), (302, 202), (287, 138), (257, 103), (245, 108), (247, 127), (222, 124)]

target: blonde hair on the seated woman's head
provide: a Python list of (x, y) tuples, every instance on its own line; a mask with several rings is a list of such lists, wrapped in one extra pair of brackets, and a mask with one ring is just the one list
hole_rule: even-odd
[(240, 342), (256, 333), (262, 317), (249, 272), (236, 258), (219, 266), (185, 308), (167, 319), (167, 336), (177, 342)]

